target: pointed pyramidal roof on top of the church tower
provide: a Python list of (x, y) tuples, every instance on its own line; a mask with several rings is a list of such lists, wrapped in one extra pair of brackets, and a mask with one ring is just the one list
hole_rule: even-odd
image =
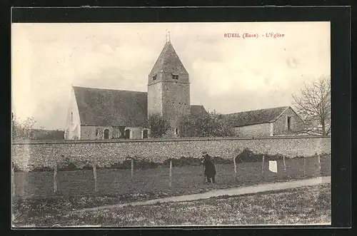
[(154, 67), (150, 72), (150, 76), (154, 76), (160, 71), (165, 73), (186, 73), (186, 68), (183, 66), (180, 58), (178, 57), (174, 46), (172, 46), (170, 41), (165, 43), (164, 48), (162, 49), (159, 58), (157, 59)]

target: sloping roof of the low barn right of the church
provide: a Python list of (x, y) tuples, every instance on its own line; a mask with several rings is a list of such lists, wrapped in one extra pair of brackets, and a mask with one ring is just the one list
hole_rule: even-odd
[(281, 106), (278, 108), (267, 108), (255, 111), (243, 111), (238, 113), (226, 114), (226, 118), (231, 122), (233, 127), (255, 125), (260, 123), (270, 123), (278, 116), (286, 111), (288, 106)]

